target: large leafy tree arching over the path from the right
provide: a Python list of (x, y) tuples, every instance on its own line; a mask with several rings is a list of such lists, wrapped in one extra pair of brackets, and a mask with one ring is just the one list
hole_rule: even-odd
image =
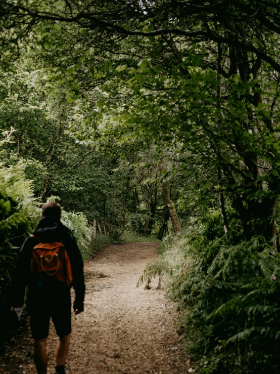
[[(70, 125), (80, 141), (107, 149), (164, 146), (184, 165), (198, 158), (209, 175), (219, 173), (211, 188), (218, 185), (220, 197), (230, 199), (246, 237), (262, 232), (274, 240), (280, 71), (274, 2), (141, 4), (4, 2), (3, 25), (20, 16), (6, 24), (18, 40), (26, 27), (39, 27), (50, 80), (66, 85), (76, 116), (86, 110)], [(3, 40), (9, 41), (5, 31)]]

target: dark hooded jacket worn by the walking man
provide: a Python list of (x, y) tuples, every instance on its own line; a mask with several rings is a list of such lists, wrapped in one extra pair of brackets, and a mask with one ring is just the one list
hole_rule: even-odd
[[(73, 282), (75, 289), (74, 306), (80, 311), (83, 310), (84, 301), (84, 276), (83, 261), (80, 250), (75, 240), (69, 236), (69, 230), (59, 220), (50, 217), (43, 217), (36, 230), (33, 232), (36, 238), (42, 242), (62, 241), (69, 256)], [(13, 280), (13, 293), (11, 304), (14, 307), (23, 305), (25, 287), (28, 286), (28, 294), (32, 293), (37, 287), (37, 279), (31, 273), (31, 259), (33, 247), (38, 244), (35, 237), (28, 236), (20, 251), (15, 276)]]

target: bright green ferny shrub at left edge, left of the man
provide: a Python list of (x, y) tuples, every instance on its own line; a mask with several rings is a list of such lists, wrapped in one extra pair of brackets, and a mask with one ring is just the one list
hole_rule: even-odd
[(20, 246), (39, 220), (31, 181), (26, 180), (24, 161), (15, 166), (0, 164), (0, 350), (10, 331), (11, 276)]

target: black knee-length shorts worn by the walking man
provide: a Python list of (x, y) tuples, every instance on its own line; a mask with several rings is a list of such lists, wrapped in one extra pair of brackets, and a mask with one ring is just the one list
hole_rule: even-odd
[(27, 308), (33, 339), (49, 336), (50, 318), (58, 336), (71, 333), (71, 296), (68, 287), (29, 290)]

